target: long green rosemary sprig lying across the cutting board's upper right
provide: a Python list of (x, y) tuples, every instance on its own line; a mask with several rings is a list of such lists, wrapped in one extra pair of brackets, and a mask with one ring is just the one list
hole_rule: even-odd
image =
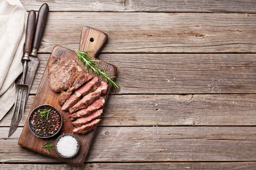
[[(117, 84), (116, 82), (114, 82), (113, 80), (111, 80), (111, 78), (113, 77), (116, 77), (116, 76), (108, 76), (108, 74), (111, 74), (111, 73), (106, 73), (106, 72), (103, 72), (101, 68), (106, 68), (106, 67), (98, 67), (97, 64), (95, 64), (95, 62), (97, 61), (101, 61), (101, 60), (93, 60), (93, 59), (90, 59), (89, 55), (87, 55), (87, 52), (89, 51), (80, 51), (80, 50), (75, 50), (73, 49), (71, 46), (69, 46), (73, 51), (75, 51), (76, 55), (77, 55), (77, 58), (80, 59), (82, 61), (82, 65), (86, 66), (87, 68), (87, 71), (89, 71), (88, 69), (91, 68), (91, 72), (92, 73), (95, 73), (96, 76), (101, 76), (104, 78), (104, 80), (106, 81), (109, 81), (110, 84), (112, 86), (114, 86), (115, 88), (119, 88), (119, 84)], [(90, 50), (92, 51), (92, 50)]]

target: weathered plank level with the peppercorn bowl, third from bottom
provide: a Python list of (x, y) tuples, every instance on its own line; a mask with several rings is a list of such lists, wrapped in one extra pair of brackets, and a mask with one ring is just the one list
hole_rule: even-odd
[[(30, 95), (19, 126), (33, 100)], [(99, 126), (255, 126), (255, 103), (256, 94), (110, 95)], [(0, 126), (9, 126), (11, 116)]]

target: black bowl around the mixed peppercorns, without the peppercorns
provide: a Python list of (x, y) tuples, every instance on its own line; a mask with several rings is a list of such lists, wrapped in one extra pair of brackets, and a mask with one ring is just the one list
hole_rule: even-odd
[[(60, 120), (58, 120), (58, 121), (60, 122), (60, 123), (59, 123), (59, 127), (58, 127), (58, 129), (57, 129), (56, 131), (54, 131), (53, 134), (51, 134), (51, 135), (46, 134), (46, 135), (43, 135), (43, 136), (39, 136), (39, 135), (37, 134), (37, 131), (36, 131), (37, 128), (33, 127), (33, 125), (32, 125), (33, 115), (34, 115), (35, 113), (37, 113), (37, 110), (39, 110), (39, 109), (45, 109), (45, 110), (51, 109), (51, 110), (54, 110), (55, 113), (57, 113), (57, 114), (59, 115), (59, 118), (60, 118)], [(50, 118), (48, 118), (48, 119), (50, 119)], [(34, 110), (31, 111), (31, 113), (30, 113), (30, 115), (29, 115), (29, 118), (28, 118), (28, 127), (30, 128), (31, 132), (32, 132), (35, 136), (40, 137), (40, 138), (50, 138), (50, 137), (55, 136), (55, 135), (60, 131), (60, 129), (61, 129), (61, 127), (62, 127), (62, 116), (61, 116), (59, 110), (57, 110), (55, 107), (53, 107), (53, 106), (51, 106), (51, 105), (48, 105), (48, 104), (44, 104), (44, 105), (38, 106), (37, 108), (35, 108)]]

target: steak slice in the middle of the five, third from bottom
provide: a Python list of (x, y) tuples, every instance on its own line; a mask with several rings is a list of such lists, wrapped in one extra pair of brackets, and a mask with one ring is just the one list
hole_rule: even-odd
[(96, 100), (95, 102), (91, 103), (87, 108), (81, 109), (73, 113), (69, 116), (71, 120), (74, 120), (76, 118), (86, 117), (93, 113), (95, 110), (100, 109), (105, 103), (105, 100), (103, 97), (100, 97), (100, 99)]

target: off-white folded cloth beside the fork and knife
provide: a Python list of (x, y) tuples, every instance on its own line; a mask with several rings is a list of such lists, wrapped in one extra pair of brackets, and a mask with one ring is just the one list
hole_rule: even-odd
[(0, 0), (0, 120), (15, 102), (26, 24), (27, 11), (19, 0)]

